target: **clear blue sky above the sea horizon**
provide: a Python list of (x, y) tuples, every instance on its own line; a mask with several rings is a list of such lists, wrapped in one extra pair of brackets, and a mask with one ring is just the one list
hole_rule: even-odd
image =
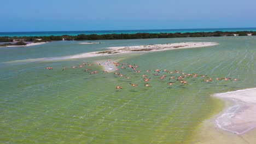
[(255, 0), (12, 0), (0, 32), (256, 27)]

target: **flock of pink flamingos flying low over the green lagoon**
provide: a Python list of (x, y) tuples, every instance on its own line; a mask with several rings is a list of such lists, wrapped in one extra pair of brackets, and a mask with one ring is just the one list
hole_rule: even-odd
[[(83, 71), (85, 73), (89, 73), (90, 75), (95, 75), (95, 74), (111, 74), (111, 75), (117, 75), (118, 77), (124, 77), (123, 79), (130, 79), (131, 81), (129, 82), (129, 84), (131, 85), (131, 87), (136, 87), (139, 85), (144, 85), (144, 87), (153, 87), (154, 86), (154, 82), (152, 77), (156, 77), (159, 78), (159, 81), (166, 81), (166, 87), (168, 86), (173, 86), (173, 85), (190, 85), (190, 81), (193, 79), (199, 79), (201, 77), (201, 81), (202, 82), (207, 82), (207, 83), (211, 83), (213, 81), (240, 81), (239, 79), (231, 79), (230, 77), (223, 77), (223, 78), (213, 78), (210, 77), (208, 75), (200, 75), (200, 74), (196, 74), (196, 73), (185, 73), (185, 71), (181, 71), (181, 70), (167, 70), (167, 69), (154, 69), (154, 70), (150, 70), (150, 69), (146, 69), (146, 70), (141, 70), (139, 65), (137, 64), (129, 64), (129, 63), (122, 63), (120, 64), (119, 62), (112, 62), (110, 60), (108, 60), (107, 62), (104, 63), (97, 63), (96, 65), (100, 65), (100, 66), (104, 66), (105, 68), (110, 68), (110, 66), (115, 67), (114, 69), (106, 69), (103, 70), (102, 73), (100, 73), (98, 70), (93, 70), (93, 66), (94, 64), (88, 64), (83, 62), (83, 64), (79, 65), (78, 67), (76, 65), (71, 66), (70, 69), (83, 69)], [(86, 67), (86, 68), (84, 68)], [(46, 69), (49, 70), (53, 70), (53, 67), (46, 67)], [(62, 71), (66, 71), (66, 69), (68, 69), (67, 67), (62, 68)], [(122, 74), (122, 72), (130, 72), (130, 74)], [(150, 71), (153, 71), (150, 74)], [(113, 73), (110, 73), (113, 72)], [(129, 75), (136, 75), (136, 76), (129, 76)], [(144, 83), (138, 83), (143, 81)], [(179, 84), (178, 84), (179, 83)], [(123, 87), (116, 86), (115, 89), (125, 89)]]

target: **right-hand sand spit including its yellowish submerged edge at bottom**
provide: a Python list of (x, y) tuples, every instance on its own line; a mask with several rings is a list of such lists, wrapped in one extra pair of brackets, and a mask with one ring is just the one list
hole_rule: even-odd
[(223, 99), (225, 108), (202, 123), (197, 143), (255, 143), (256, 88), (213, 96)]

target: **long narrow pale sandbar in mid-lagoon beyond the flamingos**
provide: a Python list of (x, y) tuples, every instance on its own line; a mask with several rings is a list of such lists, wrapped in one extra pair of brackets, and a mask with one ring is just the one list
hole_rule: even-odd
[(88, 52), (88, 53), (82, 53), (79, 55), (68, 56), (66, 58), (110, 56), (110, 55), (120, 54), (120, 53), (177, 50), (177, 49), (206, 47), (206, 46), (214, 46), (214, 45), (218, 45), (218, 44), (213, 42), (201, 42), (201, 43), (174, 43), (174, 44), (158, 44), (158, 45), (142, 45), (142, 46), (107, 47), (106, 49), (110, 49), (109, 51)]

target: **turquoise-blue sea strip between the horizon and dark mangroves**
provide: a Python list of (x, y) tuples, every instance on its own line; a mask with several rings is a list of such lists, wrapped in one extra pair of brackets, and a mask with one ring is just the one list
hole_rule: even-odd
[(138, 30), (115, 30), (115, 31), (56, 31), (56, 32), (0, 32), (0, 37), (29, 37), (50, 35), (78, 35), (78, 34), (134, 34), (134, 33), (194, 33), (194, 32), (236, 32), (256, 31), (256, 28), (197, 28), (197, 29), (138, 29)]

